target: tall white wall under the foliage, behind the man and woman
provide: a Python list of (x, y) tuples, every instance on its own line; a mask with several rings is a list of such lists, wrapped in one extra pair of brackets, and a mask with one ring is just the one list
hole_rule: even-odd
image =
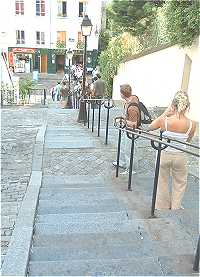
[(173, 46), (121, 64), (113, 83), (113, 99), (120, 100), (119, 85), (129, 83), (146, 106), (166, 107), (181, 88), (185, 54), (192, 59), (188, 94), (191, 101), (190, 115), (199, 121), (200, 84), (199, 47), (180, 49)]

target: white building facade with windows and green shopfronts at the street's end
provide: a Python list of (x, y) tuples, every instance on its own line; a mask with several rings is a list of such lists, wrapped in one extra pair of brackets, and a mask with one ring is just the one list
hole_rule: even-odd
[[(83, 62), (81, 23), (87, 14), (93, 24), (88, 37), (87, 67), (95, 67), (102, 1), (6, 0), (0, 12), (0, 34), (7, 46), (9, 65), (16, 72), (62, 73), (68, 65)], [(1, 43), (0, 43), (1, 46)]]

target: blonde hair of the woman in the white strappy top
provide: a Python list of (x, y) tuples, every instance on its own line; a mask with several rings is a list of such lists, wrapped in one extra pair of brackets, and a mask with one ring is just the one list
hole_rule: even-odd
[(184, 91), (178, 91), (172, 101), (172, 105), (175, 107), (179, 114), (184, 114), (187, 109), (190, 108), (190, 101), (188, 94)]

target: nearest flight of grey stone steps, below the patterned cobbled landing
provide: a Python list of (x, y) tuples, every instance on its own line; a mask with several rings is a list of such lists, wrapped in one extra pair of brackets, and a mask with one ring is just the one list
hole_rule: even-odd
[(154, 220), (133, 215), (101, 176), (44, 176), (28, 275), (191, 273), (190, 234)]

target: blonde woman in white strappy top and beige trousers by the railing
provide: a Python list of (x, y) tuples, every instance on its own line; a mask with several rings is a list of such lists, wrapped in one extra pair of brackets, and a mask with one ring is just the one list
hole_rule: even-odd
[[(189, 142), (194, 136), (196, 123), (186, 117), (190, 107), (187, 93), (178, 91), (171, 104), (171, 108), (155, 119), (148, 130), (160, 128), (163, 136)], [(179, 144), (180, 145), (180, 144)], [(184, 147), (183, 145), (181, 147)], [(172, 175), (172, 193), (170, 195), (168, 183)], [(187, 161), (184, 152), (167, 147), (162, 151), (156, 209), (181, 209), (181, 201), (187, 185)]]

